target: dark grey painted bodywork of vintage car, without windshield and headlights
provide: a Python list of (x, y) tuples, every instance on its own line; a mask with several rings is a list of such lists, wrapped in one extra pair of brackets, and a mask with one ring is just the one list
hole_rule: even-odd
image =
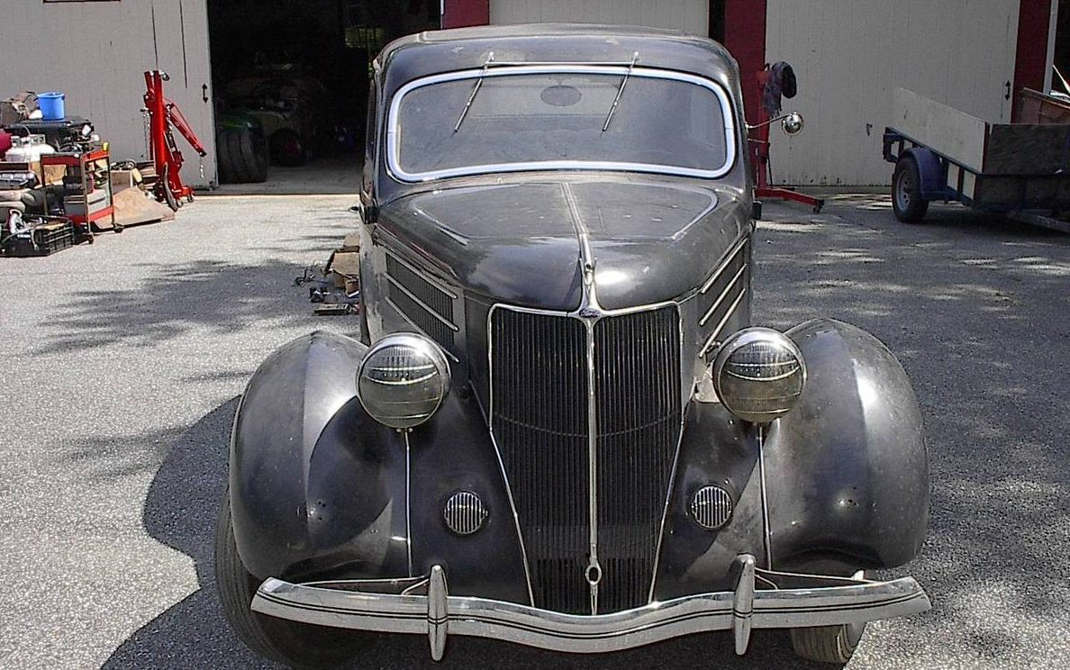
[[(716, 180), (593, 170), (395, 179), (382, 156), (394, 93), (478, 68), (491, 50), (554, 62), (625, 62), (638, 51), (644, 66), (715, 81), (731, 94), (735, 159)], [(800, 406), (764, 431), (696, 391), (716, 352), (707, 345), (751, 323), (752, 185), (739, 75), (723, 48), (621, 28), (461, 29), (395, 42), (376, 61), (373, 86), (360, 224), (364, 318), (372, 341), (399, 331), (438, 341), (453, 392), (402, 436), (356, 399), (364, 344), (316, 333), (273, 354), (249, 382), (232, 441), (234, 534), (253, 575), (399, 578), (442, 565), (450, 593), (541, 606), (531, 555), (541, 539), (525, 512), (538, 502), (518, 501), (510, 457), (489, 429), (488, 324), (495, 306), (579, 309), (587, 256), (600, 309), (664, 304), (679, 319), (678, 440), (657, 508), (649, 519), (636, 512), (635, 528), (622, 531), (653, 543), (653, 563), (636, 568), (648, 583), (643, 603), (731, 589), (742, 553), (834, 575), (917, 553), (929, 505), (921, 417), (902, 368), (872, 336), (829, 320), (790, 331), (809, 381)], [(646, 472), (641, 452), (629, 458), (624, 467)], [(734, 505), (716, 531), (688, 512), (710, 483)], [(445, 500), (460, 490), (490, 509), (469, 536), (443, 522)]]

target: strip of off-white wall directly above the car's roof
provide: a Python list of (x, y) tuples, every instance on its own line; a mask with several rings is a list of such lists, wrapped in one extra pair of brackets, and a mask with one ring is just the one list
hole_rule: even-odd
[(490, 0), (491, 24), (615, 24), (709, 32), (709, 0)]

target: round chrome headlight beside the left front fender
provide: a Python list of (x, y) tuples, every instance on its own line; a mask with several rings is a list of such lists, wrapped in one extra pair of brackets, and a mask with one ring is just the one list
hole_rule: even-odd
[(430, 418), (449, 392), (449, 364), (430, 339), (387, 335), (368, 349), (356, 374), (356, 395), (372, 418), (412, 428)]

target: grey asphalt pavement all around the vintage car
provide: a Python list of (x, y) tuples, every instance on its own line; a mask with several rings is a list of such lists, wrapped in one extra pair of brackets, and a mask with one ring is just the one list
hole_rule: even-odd
[[(0, 667), (271, 667), (218, 609), (212, 536), (247, 377), (312, 329), (294, 277), (355, 225), (348, 196), (212, 197), (173, 223), (0, 259)], [(932, 519), (911, 574), (932, 611), (871, 624), (849, 668), (1070, 666), (1070, 235), (878, 195), (767, 202), (755, 323), (855, 323), (926, 417)], [(352, 668), (821, 668), (786, 637), (704, 634), (572, 657), (384, 638)]]

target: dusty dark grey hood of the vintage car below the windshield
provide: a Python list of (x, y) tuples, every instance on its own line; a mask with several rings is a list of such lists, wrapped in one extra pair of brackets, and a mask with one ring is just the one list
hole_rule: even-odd
[(631, 180), (495, 183), (384, 205), (380, 227), (414, 260), (490, 302), (576, 309), (581, 235), (602, 308), (679, 296), (750, 225), (736, 189)]

